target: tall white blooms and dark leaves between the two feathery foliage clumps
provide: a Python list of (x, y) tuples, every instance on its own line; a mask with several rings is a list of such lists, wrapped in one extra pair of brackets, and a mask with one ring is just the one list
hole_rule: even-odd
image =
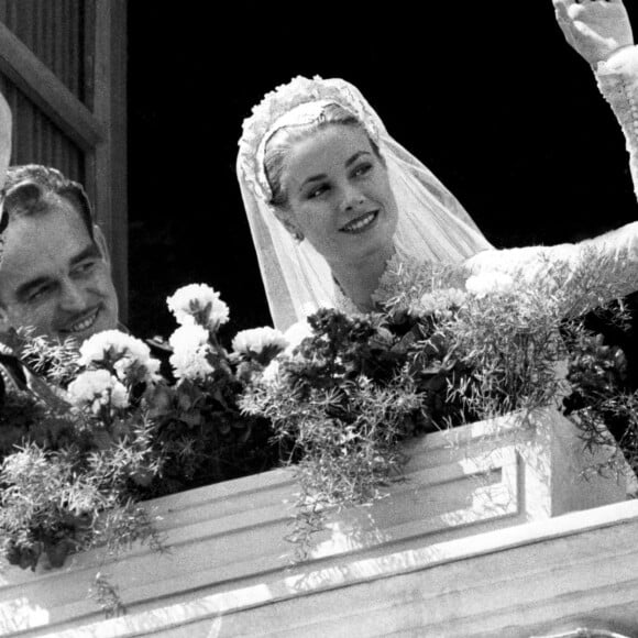
[(168, 339), (174, 383), (154, 402), (156, 437), (166, 462), (154, 495), (270, 470), (278, 462), (264, 418), (241, 413), (239, 397), (254, 374), (285, 346), (272, 328), (239, 332), (223, 348), (229, 308), (208, 286), (193, 284), (167, 299), (179, 327)]

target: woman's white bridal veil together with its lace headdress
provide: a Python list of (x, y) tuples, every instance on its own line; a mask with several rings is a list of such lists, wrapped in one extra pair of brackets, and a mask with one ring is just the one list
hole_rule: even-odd
[(280, 329), (322, 306), (333, 306), (337, 292), (326, 260), (309, 242), (295, 242), (273, 212), (265, 146), (275, 131), (317, 121), (331, 103), (356, 117), (385, 158), (399, 210), (394, 238), (399, 255), (458, 263), (492, 248), (452, 194), (387, 133), (353, 85), (296, 77), (267, 94), (244, 120), (237, 165), (268, 306)]

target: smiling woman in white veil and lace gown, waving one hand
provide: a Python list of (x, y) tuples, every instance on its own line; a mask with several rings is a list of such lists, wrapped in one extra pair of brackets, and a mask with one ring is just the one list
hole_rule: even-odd
[[(638, 47), (626, 9), (622, 0), (554, 7), (620, 121), (638, 184)], [(595, 245), (613, 257), (609, 280), (625, 282), (618, 294), (638, 289), (638, 223), (575, 245), (495, 250), (342, 79), (297, 77), (266, 95), (244, 121), (238, 177), (280, 329), (322, 306), (371, 310), (388, 265), (415, 260), (459, 264), (466, 277), (534, 278), (552, 262), (575, 265)]]

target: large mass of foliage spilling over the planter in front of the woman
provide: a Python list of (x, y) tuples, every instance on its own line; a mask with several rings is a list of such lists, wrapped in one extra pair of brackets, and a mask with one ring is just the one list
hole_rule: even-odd
[[(241, 402), (272, 421), (289, 451), (301, 487), (290, 535), (297, 558), (307, 556), (327, 508), (370, 503), (400, 479), (406, 438), (525, 414), (570, 393), (560, 369), (590, 338), (581, 316), (613, 294), (590, 274), (596, 260), (606, 265), (591, 254), (580, 268), (548, 264), (531, 280), (399, 264), (378, 311), (309, 317), (305, 339)], [(569, 381), (574, 396), (582, 380)]]

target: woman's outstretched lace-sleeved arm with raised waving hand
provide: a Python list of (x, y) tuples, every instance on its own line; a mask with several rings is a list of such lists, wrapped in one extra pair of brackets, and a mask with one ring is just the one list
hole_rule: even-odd
[[(638, 197), (638, 47), (622, 0), (553, 0), (565, 40), (594, 68), (627, 140), (631, 178)], [(601, 264), (605, 265), (601, 268)], [(521, 285), (538, 277), (548, 283), (566, 266), (579, 272), (598, 267), (608, 296), (638, 290), (638, 222), (579, 244), (483, 251), (465, 262), (469, 275), (502, 273)]]

